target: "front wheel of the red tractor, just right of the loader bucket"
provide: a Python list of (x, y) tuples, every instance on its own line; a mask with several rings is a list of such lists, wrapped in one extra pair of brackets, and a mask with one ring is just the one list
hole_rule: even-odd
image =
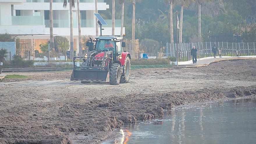
[(121, 79), (121, 67), (118, 63), (112, 63), (109, 70), (109, 83), (119, 85)]

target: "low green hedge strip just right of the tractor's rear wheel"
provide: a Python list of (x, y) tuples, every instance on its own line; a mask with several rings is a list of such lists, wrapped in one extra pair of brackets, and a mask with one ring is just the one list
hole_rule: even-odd
[(170, 65), (169, 59), (131, 59), (131, 65)]

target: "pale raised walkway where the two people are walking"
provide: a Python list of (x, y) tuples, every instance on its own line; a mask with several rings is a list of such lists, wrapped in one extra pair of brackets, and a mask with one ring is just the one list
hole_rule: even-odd
[(201, 66), (207, 66), (210, 63), (214, 63), (217, 61), (225, 61), (225, 60), (256, 60), (256, 56), (241, 56), (241, 57), (209, 57), (209, 58), (199, 58), (196, 64), (193, 64), (193, 61), (185, 61), (185, 62), (179, 62), (179, 67), (201, 67)]

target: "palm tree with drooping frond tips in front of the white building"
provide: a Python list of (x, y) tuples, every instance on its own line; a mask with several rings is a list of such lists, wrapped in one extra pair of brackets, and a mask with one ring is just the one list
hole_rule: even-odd
[[(67, 7), (67, 0), (64, 0), (63, 7)], [(73, 11), (72, 9), (75, 7), (74, 0), (69, 1), (69, 10), (70, 10), (70, 58), (73, 59), (74, 49), (73, 49)]]

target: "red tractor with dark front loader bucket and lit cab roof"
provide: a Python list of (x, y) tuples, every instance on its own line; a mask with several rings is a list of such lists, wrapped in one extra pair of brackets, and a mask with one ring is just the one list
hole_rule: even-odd
[[(125, 47), (123, 37), (98, 36), (95, 40), (87, 40), (86, 46), (88, 54), (85, 57), (73, 58), (74, 70), (70, 80), (81, 83), (109, 81), (111, 85), (129, 82), (131, 55), (122, 51)], [(76, 65), (77, 59), (82, 59), (81, 66)]]

